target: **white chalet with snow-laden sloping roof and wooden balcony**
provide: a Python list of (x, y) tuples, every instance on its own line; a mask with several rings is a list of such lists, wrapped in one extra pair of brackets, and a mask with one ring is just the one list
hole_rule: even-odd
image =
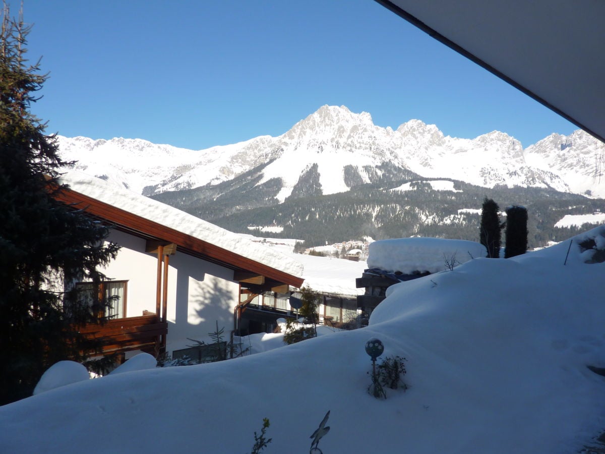
[(111, 226), (108, 240), (122, 246), (103, 269), (111, 280), (76, 284), (119, 297), (108, 323), (82, 329), (102, 338), (105, 354), (191, 354), (191, 339), (208, 342), (217, 324), (226, 340), (235, 330), (262, 331), (255, 311), (246, 314), (250, 301), (263, 295), (277, 304), (289, 286), (302, 286), (301, 263), (240, 235), (82, 173), (61, 182), (69, 188), (57, 198)]

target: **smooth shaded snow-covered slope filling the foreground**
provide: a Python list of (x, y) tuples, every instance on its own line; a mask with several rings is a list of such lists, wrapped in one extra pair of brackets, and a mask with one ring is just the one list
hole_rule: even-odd
[[(0, 452), (573, 453), (605, 428), (605, 263), (587, 236), (397, 284), (370, 326), (249, 357), (80, 381), (0, 407)], [(572, 244), (566, 260), (567, 249)], [(564, 265), (564, 263), (566, 264)], [(409, 389), (368, 395), (370, 358)]]

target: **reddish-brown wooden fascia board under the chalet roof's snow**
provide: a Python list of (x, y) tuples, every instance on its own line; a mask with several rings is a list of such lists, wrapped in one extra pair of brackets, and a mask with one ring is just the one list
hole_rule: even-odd
[(252, 271), (298, 288), (302, 286), (302, 282), (304, 281), (302, 278), (271, 268), (268, 265), (264, 265), (264, 263), (259, 263), (250, 258), (235, 254), (235, 252), (220, 248), (212, 243), (205, 242), (204, 240), (179, 232), (160, 223), (145, 219), (144, 217), (132, 214), (131, 212), (101, 202), (100, 200), (93, 199), (80, 192), (71, 189), (62, 189), (55, 192), (53, 196), (61, 202), (73, 204), (74, 206), (77, 206), (77, 208), (84, 209), (84, 211), (89, 214), (108, 220), (118, 226), (134, 229), (135, 231), (169, 243), (176, 243), (179, 246), (179, 249), (185, 253), (190, 253), (189, 251), (191, 251), (195, 253), (191, 255), (200, 254), (202, 256), (208, 256), (231, 268)]

